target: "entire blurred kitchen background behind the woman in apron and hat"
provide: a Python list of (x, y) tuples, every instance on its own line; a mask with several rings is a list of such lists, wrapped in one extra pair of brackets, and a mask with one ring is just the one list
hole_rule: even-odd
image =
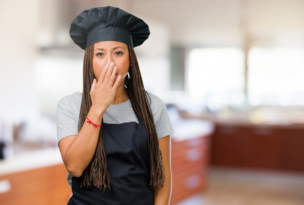
[(84, 9), (144, 19), (147, 91), (166, 103), (171, 205), (304, 204), (304, 0), (1, 0), (0, 204), (71, 194), (57, 102), (82, 93)]

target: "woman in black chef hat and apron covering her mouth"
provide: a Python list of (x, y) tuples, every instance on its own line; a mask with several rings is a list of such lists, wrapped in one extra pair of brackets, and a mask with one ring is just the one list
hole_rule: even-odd
[(85, 53), (83, 94), (57, 106), (68, 205), (169, 204), (173, 129), (163, 101), (144, 90), (133, 48), (149, 34), (143, 20), (110, 6), (85, 10), (71, 24)]

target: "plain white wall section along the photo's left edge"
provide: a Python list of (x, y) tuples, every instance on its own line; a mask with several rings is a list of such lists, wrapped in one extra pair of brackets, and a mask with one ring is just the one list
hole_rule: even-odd
[(38, 0), (2, 0), (0, 6), (0, 119), (38, 114), (34, 60)]

